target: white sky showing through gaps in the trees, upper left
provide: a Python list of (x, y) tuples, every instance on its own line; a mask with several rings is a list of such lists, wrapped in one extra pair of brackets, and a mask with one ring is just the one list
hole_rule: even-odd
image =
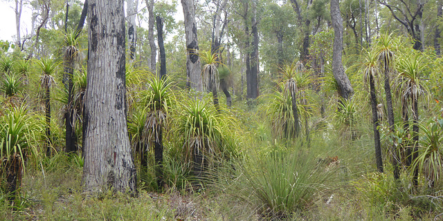
[[(146, 3), (139, 1), (138, 9), (145, 7)], [(0, 0), (0, 40), (15, 41), (17, 30), (15, 28), (15, 1)], [(126, 7), (125, 7), (126, 8)], [(21, 14), (21, 37), (30, 32), (32, 11), (29, 6), (24, 6)], [(177, 4), (176, 21), (183, 20), (183, 10), (181, 4)], [(143, 26), (143, 24), (142, 24)], [(147, 28), (147, 25), (146, 27)]]

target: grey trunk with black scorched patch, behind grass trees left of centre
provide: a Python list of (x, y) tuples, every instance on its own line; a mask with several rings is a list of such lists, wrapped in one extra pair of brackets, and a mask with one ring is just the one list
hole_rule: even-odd
[(185, 16), (186, 34), (186, 76), (187, 86), (197, 91), (203, 91), (201, 81), (201, 64), (199, 56), (199, 41), (197, 39), (197, 23), (195, 23), (195, 7), (193, 0), (181, 0)]

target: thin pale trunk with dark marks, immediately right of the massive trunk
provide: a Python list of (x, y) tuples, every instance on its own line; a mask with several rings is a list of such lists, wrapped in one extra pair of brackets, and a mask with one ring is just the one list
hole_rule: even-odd
[(129, 63), (132, 63), (136, 58), (136, 39), (137, 39), (137, 15), (138, 1), (127, 0), (127, 40), (129, 41)]

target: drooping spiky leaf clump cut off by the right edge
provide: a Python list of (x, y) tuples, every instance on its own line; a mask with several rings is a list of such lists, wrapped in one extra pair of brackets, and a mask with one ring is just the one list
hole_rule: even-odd
[(420, 140), (419, 153), (412, 164), (412, 171), (418, 169), (433, 188), (443, 173), (443, 119), (435, 119), (428, 126), (421, 126), (424, 133)]

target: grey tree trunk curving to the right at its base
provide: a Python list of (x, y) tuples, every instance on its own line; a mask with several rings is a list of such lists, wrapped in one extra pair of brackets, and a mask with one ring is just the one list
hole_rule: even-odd
[(332, 73), (337, 81), (339, 93), (344, 99), (349, 99), (354, 93), (351, 81), (345, 74), (341, 63), (341, 52), (343, 50), (343, 21), (341, 20), (338, 0), (331, 0), (331, 21), (334, 27), (334, 45), (332, 48)]

